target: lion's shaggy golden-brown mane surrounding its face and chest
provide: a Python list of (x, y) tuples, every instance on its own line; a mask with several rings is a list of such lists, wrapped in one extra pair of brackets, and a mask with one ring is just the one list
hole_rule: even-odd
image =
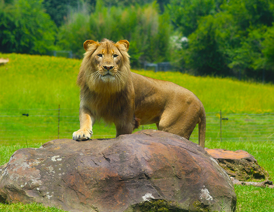
[[(111, 48), (115, 45), (122, 56), (116, 80), (107, 83), (94, 74), (98, 70), (94, 52), (102, 42), (106, 45), (103, 48)], [(103, 117), (107, 123), (112, 123), (122, 114), (124, 105), (129, 104), (125, 100), (131, 99), (129, 97), (131, 88), (128, 88), (132, 86), (130, 61), (126, 46), (108, 39), (102, 42), (97, 41), (95, 44), (84, 46), (86, 52), (78, 73), (77, 84), (81, 90), (81, 104), (90, 106), (97, 120)]]

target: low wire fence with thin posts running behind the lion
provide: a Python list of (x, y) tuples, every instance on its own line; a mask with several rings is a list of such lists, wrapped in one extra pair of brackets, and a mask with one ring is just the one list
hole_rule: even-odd
[[(274, 141), (274, 113), (235, 114), (208, 112), (206, 141)], [(78, 109), (0, 109), (0, 144), (44, 143), (72, 139), (79, 129)], [(138, 130), (157, 129), (156, 125)], [(115, 126), (93, 126), (92, 139), (114, 138)], [(197, 126), (190, 138), (197, 142)]]

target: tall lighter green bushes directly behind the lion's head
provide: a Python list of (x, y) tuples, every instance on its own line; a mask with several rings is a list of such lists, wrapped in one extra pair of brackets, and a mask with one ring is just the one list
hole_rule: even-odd
[(105, 7), (98, 0), (91, 14), (71, 13), (68, 22), (60, 28), (58, 44), (69, 47), (79, 58), (84, 52), (83, 41), (87, 39), (127, 39), (133, 65), (138, 60), (162, 62), (169, 57), (171, 30), (168, 14), (160, 15), (156, 3), (123, 8)]

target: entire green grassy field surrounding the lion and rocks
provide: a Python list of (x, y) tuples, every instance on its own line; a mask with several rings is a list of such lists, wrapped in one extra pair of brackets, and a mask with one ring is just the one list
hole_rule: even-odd
[[(11, 121), (0, 123), (0, 133), (4, 132), (6, 141), (0, 141), (0, 165), (8, 162), (10, 156), (19, 148), (39, 147), (46, 142), (45, 138), (57, 138), (58, 119), (56, 112), (58, 105), (62, 112), (64, 108), (72, 109), (70, 115), (61, 116), (60, 122), (67, 123), (60, 129), (60, 138), (71, 138), (74, 130), (78, 130), (78, 106), (79, 89), (76, 85), (76, 78), (80, 66), (80, 60), (55, 58), (47, 56), (30, 56), (18, 54), (1, 54), (0, 57), (9, 58), (10, 62), (0, 66), (0, 116), (9, 114), (14, 116)], [(223, 117), (229, 117), (223, 121), (224, 130), (230, 127), (231, 131), (243, 131), (249, 128), (254, 135), (260, 128), (265, 126), (266, 118), (262, 116), (238, 119), (232, 113), (267, 113), (274, 112), (274, 85), (243, 82), (229, 78), (195, 77), (179, 72), (153, 72), (135, 71), (153, 78), (172, 81), (191, 91), (202, 101), (206, 112), (218, 112), (222, 109)], [(11, 111), (10, 109), (15, 109)], [(34, 108), (44, 109), (42, 113)], [(6, 110), (4, 110), (6, 109)], [(14, 115), (14, 111), (16, 111)], [(29, 117), (22, 116), (22, 113), (29, 113)], [(66, 113), (67, 114), (67, 113)], [(213, 141), (210, 137), (217, 137), (219, 133), (219, 113), (213, 113), (212, 120), (208, 116), (208, 126), (216, 125), (215, 130), (207, 132), (206, 146), (208, 148), (224, 148), (229, 150), (243, 149), (258, 160), (274, 180), (274, 141), (264, 139), (263, 141), (249, 141), (228, 138), (225, 141)], [(273, 115), (270, 115), (273, 116)], [(268, 116), (268, 117), (270, 117)], [(25, 118), (25, 119), (23, 119)], [(29, 118), (29, 119), (26, 119)], [(1, 116), (1, 122), (5, 119)], [(254, 119), (253, 126), (250, 120)], [(28, 121), (27, 121), (28, 120)], [(211, 121), (210, 121), (211, 120)], [(74, 122), (73, 124), (70, 122)], [(216, 122), (216, 123), (215, 123)], [(9, 124), (6, 124), (9, 123)], [(42, 126), (40, 123), (48, 123), (51, 127)], [(235, 127), (236, 126), (236, 127)], [(240, 127), (238, 127), (240, 126)], [(146, 126), (145, 129), (155, 128), (154, 125)], [(33, 130), (35, 129), (35, 130)], [(141, 128), (142, 129), (142, 128)], [(210, 128), (208, 128), (210, 129)], [(9, 131), (6, 131), (9, 130)], [(264, 138), (272, 138), (272, 128), (266, 127), (268, 134)], [(268, 132), (271, 131), (271, 132)], [(213, 135), (213, 134), (217, 135)], [(257, 133), (258, 134), (258, 133)], [(115, 136), (114, 126), (105, 127), (104, 123), (94, 125), (94, 138)], [(18, 141), (14, 141), (14, 137)], [(229, 135), (223, 134), (224, 138)], [(257, 135), (258, 136), (258, 135)], [(262, 137), (262, 135), (259, 135)], [(195, 131), (192, 138), (197, 137)], [(245, 135), (245, 137), (247, 137)], [(20, 139), (22, 138), (22, 139)], [(38, 138), (38, 139), (34, 139)], [(39, 141), (39, 138), (43, 138)], [(0, 134), (0, 139), (3, 136)], [(51, 140), (52, 140), (51, 139)], [(48, 140), (49, 141), (49, 140)], [(194, 141), (196, 141), (194, 139)], [(251, 186), (235, 186), (237, 194), (238, 212), (273, 212), (274, 211), (274, 190), (269, 188), (254, 188)], [(0, 204), (0, 212), (61, 212), (56, 208), (45, 208), (39, 204), (3, 205)]]

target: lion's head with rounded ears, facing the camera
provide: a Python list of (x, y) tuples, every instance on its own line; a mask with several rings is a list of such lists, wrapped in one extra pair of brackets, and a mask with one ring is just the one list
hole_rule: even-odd
[(123, 89), (130, 74), (129, 42), (86, 40), (83, 46), (86, 53), (78, 74), (78, 85), (81, 88), (87, 85), (97, 93), (115, 93)]

